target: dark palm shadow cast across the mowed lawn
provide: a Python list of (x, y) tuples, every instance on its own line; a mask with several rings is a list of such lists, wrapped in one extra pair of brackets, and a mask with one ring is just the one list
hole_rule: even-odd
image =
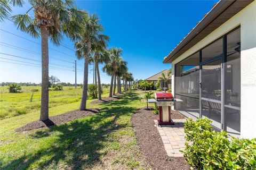
[[(69, 163), (71, 169), (91, 168), (95, 163), (101, 163), (100, 157), (104, 154), (101, 150), (111, 142), (110, 133), (127, 126), (115, 126), (117, 118), (134, 111), (133, 107), (105, 107), (96, 115), (51, 126), (48, 130), (38, 130), (29, 138), (46, 139), (56, 135), (53, 145), (45, 145), (36, 153), (25, 154), (3, 169), (27, 169), (38, 161), (39, 169), (56, 167), (60, 161)], [(42, 162), (44, 157), (48, 159)]]

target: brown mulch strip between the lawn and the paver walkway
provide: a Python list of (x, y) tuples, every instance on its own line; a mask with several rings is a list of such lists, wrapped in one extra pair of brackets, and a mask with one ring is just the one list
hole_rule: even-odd
[[(172, 118), (180, 117), (173, 113)], [(154, 126), (154, 115), (150, 109), (139, 109), (132, 115), (132, 124), (137, 136), (138, 145), (152, 169), (190, 169), (183, 157), (169, 157), (164, 149), (163, 141)]]

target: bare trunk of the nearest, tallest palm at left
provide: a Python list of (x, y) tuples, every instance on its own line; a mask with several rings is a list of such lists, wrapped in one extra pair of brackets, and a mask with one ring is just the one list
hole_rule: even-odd
[(40, 121), (49, 119), (49, 49), (48, 33), (45, 27), (41, 27), (42, 48), (42, 90)]

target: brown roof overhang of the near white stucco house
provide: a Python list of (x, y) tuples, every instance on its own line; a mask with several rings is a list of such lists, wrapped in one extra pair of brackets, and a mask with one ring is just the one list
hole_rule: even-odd
[(197, 22), (196, 26), (191, 29), (180, 43), (166, 57), (164, 57), (163, 63), (171, 63), (239, 11), (243, 10), (243, 8), (251, 2), (253, 2), (253, 0), (220, 0), (218, 3), (214, 4), (211, 11), (206, 13), (203, 19)]

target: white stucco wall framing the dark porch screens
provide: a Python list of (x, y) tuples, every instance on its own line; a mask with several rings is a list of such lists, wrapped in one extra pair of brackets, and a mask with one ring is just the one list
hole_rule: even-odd
[(241, 138), (252, 139), (256, 138), (256, 1), (172, 62), (172, 93), (174, 65), (238, 25), (241, 25)]

